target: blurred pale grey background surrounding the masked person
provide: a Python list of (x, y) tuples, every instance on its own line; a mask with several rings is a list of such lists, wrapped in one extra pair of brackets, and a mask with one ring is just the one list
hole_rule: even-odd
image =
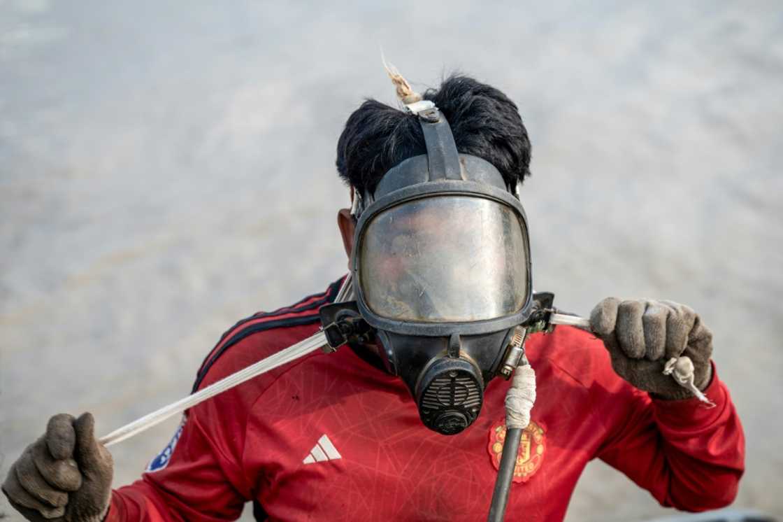
[[(50, 415), (174, 401), (236, 320), (345, 272), (334, 149), (395, 103), (381, 45), (418, 89), (518, 103), (536, 289), (702, 314), (748, 438), (734, 506), (783, 517), (775, 1), (0, 1), (0, 476)], [(115, 484), (176, 422), (113, 448)], [(567, 520), (671, 514), (594, 462)]]

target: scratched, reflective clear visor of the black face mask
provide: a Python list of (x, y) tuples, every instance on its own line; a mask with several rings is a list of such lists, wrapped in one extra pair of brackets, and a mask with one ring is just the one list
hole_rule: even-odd
[(498, 201), (406, 201), (374, 216), (360, 241), (359, 284), (380, 317), (482, 321), (525, 306), (528, 237), (517, 212)]

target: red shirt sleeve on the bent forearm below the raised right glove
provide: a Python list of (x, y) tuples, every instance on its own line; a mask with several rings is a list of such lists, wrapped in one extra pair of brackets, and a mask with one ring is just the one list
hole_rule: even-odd
[(713, 364), (705, 394), (714, 408), (696, 398), (651, 399), (639, 390), (616, 408), (608, 439), (598, 457), (647, 489), (662, 504), (703, 511), (734, 501), (745, 469), (745, 437), (726, 386)]

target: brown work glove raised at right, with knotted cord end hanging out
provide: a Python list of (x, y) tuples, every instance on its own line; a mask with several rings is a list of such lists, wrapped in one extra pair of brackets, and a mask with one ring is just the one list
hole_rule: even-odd
[(713, 334), (687, 306), (608, 297), (595, 306), (590, 324), (609, 350), (615, 372), (640, 390), (665, 399), (693, 397), (671, 375), (663, 375), (664, 364), (673, 357), (691, 358), (699, 390), (712, 379)]

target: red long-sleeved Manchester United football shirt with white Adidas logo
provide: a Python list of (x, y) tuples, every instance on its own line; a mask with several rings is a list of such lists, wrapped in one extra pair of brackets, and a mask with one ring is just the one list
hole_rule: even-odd
[[(337, 284), (256, 314), (223, 335), (197, 387), (319, 328)], [(575, 328), (532, 335), (537, 399), (507, 520), (561, 520), (598, 458), (663, 506), (726, 506), (742, 476), (744, 437), (715, 374), (696, 399), (658, 401), (620, 379), (600, 340)], [(106, 520), (233, 520), (245, 502), (264, 520), (484, 520), (504, 435), (509, 382), (493, 379), (481, 415), (452, 437), (428, 430), (402, 380), (348, 347), (312, 353), (192, 408)]]

